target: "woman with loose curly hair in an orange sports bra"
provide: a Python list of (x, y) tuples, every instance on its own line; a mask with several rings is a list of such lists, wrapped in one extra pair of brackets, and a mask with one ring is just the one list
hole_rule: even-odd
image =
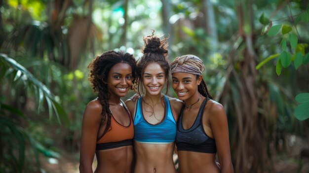
[(80, 173), (129, 173), (133, 159), (133, 121), (125, 104), (135, 79), (136, 62), (131, 54), (107, 51), (88, 66), (89, 80), (98, 98), (89, 102), (82, 120)]

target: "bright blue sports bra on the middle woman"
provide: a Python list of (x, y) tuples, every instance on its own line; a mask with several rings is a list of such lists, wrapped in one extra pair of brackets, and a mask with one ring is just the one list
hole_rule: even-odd
[(164, 96), (165, 113), (164, 118), (158, 124), (150, 124), (142, 112), (143, 98), (140, 97), (136, 103), (134, 117), (134, 140), (142, 143), (171, 143), (176, 138), (176, 121), (174, 119), (171, 105), (167, 96)]

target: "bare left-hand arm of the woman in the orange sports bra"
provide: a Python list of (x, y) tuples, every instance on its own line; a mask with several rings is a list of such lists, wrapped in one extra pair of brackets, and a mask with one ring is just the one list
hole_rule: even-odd
[(93, 173), (92, 162), (95, 154), (97, 134), (101, 123), (102, 107), (98, 101), (87, 104), (83, 118), (80, 140), (79, 172)]

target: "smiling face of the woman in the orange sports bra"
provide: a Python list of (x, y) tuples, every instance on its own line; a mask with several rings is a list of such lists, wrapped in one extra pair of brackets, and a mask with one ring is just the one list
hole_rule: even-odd
[(124, 97), (132, 86), (132, 69), (126, 63), (117, 63), (109, 72), (108, 90), (111, 97)]

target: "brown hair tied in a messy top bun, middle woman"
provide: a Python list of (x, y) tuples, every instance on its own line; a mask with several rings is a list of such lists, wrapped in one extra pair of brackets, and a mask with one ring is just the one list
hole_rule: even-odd
[[(156, 63), (160, 65), (160, 67), (164, 70), (166, 79), (169, 77), (169, 61), (167, 58), (167, 37), (164, 36), (163, 39), (160, 40), (158, 36), (154, 35), (154, 30), (152, 35), (144, 36), (144, 47), (142, 48), (142, 51), (144, 55), (137, 61), (137, 69), (136, 74), (138, 77), (138, 92), (141, 95), (141, 84), (142, 84), (142, 77), (145, 68), (151, 64)], [(169, 87), (169, 81), (167, 80), (167, 88)], [(166, 89), (166, 94), (167, 94)], [(144, 94), (144, 93), (143, 93)]]

